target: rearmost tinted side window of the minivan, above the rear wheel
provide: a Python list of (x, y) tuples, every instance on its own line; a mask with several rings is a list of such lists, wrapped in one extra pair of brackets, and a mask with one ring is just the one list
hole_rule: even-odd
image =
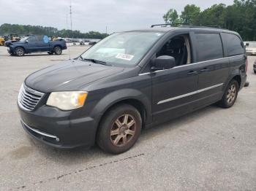
[(244, 54), (244, 43), (235, 34), (222, 34), (223, 42), (227, 46), (227, 56)]

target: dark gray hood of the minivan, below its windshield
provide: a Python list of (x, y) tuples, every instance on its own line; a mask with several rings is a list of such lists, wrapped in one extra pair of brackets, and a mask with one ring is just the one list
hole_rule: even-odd
[(85, 85), (123, 71), (123, 68), (104, 66), (85, 61), (64, 61), (29, 75), (25, 84), (42, 93), (81, 90)]

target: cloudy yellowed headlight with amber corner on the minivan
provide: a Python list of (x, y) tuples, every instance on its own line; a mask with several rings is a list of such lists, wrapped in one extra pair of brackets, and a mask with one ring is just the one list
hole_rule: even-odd
[(87, 92), (53, 92), (47, 100), (46, 105), (55, 106), (61, 110), (78, 109), (86, 101)]

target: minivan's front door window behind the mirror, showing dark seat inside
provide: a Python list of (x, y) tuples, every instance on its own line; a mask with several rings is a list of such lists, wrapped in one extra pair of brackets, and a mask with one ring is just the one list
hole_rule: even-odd
[(191, 63), (191, 54), (189, 46), (189, 35), (175, 36), (169, 39), (157, 52), (160, 55), (169, 55), (175, 58), (176, 66), (182, 66)]

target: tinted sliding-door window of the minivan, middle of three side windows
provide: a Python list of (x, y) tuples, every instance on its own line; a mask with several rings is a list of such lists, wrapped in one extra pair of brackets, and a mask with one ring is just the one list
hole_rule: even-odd
[(197, 62), (223, 58), (219, 34), (195, 34)]

